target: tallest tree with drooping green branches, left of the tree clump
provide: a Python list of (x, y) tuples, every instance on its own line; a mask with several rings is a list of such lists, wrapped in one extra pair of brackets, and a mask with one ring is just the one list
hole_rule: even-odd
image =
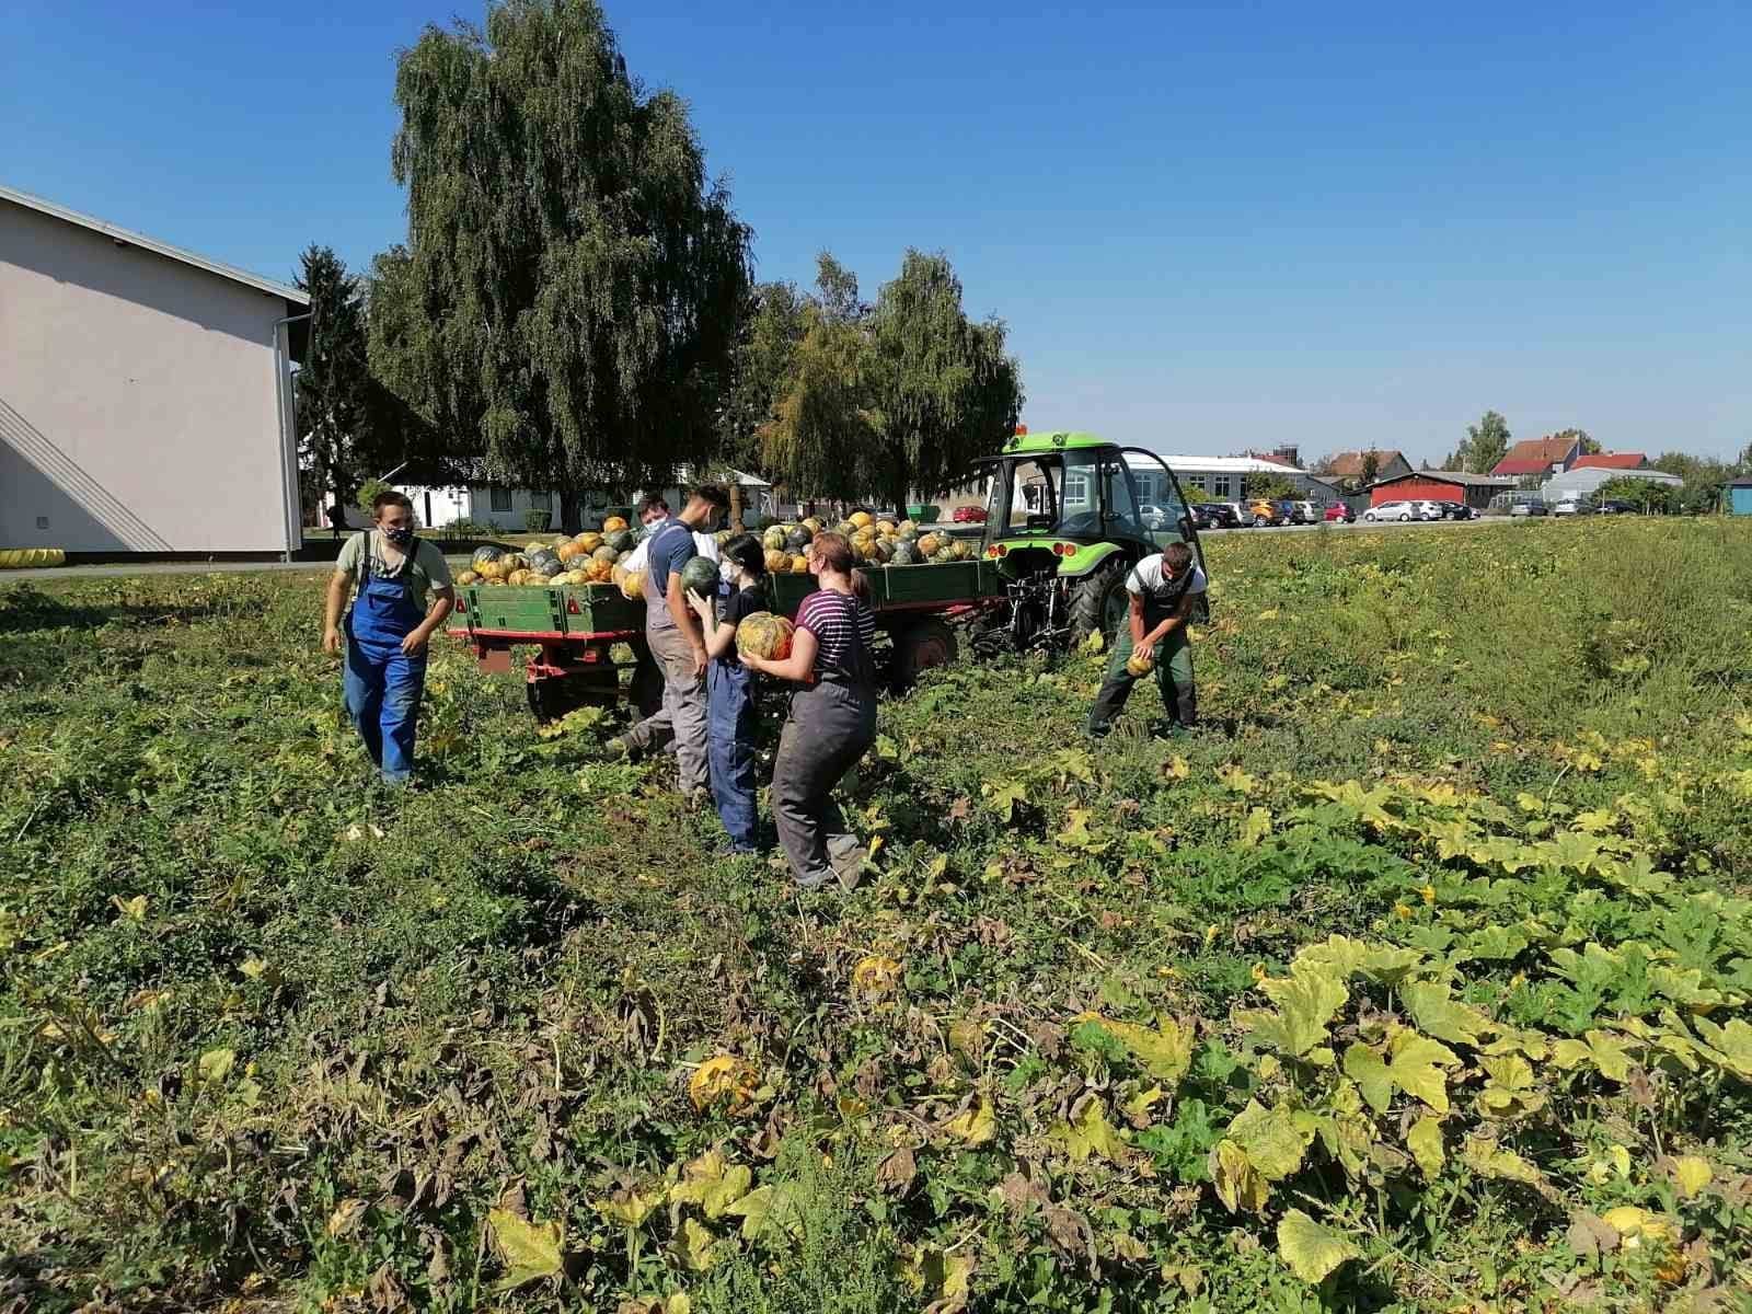
[(750, 233), (673, 91), (592, 0), (429, 26), (396, 68), (408, 240), (378, 259), (378, 373), (489, 477), (666, 484), (711, 450)]

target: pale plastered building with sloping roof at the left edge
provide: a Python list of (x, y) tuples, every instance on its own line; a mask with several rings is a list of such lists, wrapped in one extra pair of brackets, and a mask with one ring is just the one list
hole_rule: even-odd
[(287, 314), (0, 200), (0, 547), (298, 548), (273, 349)]

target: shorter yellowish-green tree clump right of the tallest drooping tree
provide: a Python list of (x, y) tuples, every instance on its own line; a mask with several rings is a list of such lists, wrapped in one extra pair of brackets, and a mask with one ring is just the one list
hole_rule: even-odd
[[(813, 294), (771, 293), (755, 338), (774, 380), (760, 456), (767, 475), (823, 498), (937, 492), (997, 449), (1021, 413), (1004, 324), (974, 322), (944, 256), (908, 251), (874, 305), (832, 256)], [(788, 342), (788, 354), (781, 345)], [(760, 384), (752, 384), (759, 389)]]

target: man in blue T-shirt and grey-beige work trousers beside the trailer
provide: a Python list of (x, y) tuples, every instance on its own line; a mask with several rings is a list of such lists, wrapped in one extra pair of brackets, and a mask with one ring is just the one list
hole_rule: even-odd
[(662, 706), (615, 741), (634, 759), (673, 741), (676, 788), (692, 804), (710, 797), (706, 639), (682, 594), (682, 568), (699, 555), (694, 531), (710, 534), (729, 506), (731, 496), (724, 489), (694, 489), (682, 513), (664, 522), (650, 540), (645, 564), (645, 641), (662, 669)]

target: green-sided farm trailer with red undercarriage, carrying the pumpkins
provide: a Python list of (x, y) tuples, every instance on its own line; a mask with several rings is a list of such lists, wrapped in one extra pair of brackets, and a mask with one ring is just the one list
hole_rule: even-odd
[[(995, 559), (923, 566), (864, 566), (876, 625), (888, 639), (888, 671), (909, 685), (920, 671), (955, 661), (957, 629), (1007, 604), (1007, 582)], [(795, 617), (815, 590), (813, 575), (769, 575), (769, 606)], [(487, 671), (510, 671), (512, 648), (534, 646), (526, 662), (529, 708), (541, 720), (585, 703), (620, 696), (620, 671), (631, 669), (627, 694), (650, 706), (653, 666), (645, 646), (645, 603), (622, 597), (611, 583), (568, 587), (470, 583), (457, 589), (450, 634), (468, 643)], [(622, 661), (615, 648), (625, 645)]]

